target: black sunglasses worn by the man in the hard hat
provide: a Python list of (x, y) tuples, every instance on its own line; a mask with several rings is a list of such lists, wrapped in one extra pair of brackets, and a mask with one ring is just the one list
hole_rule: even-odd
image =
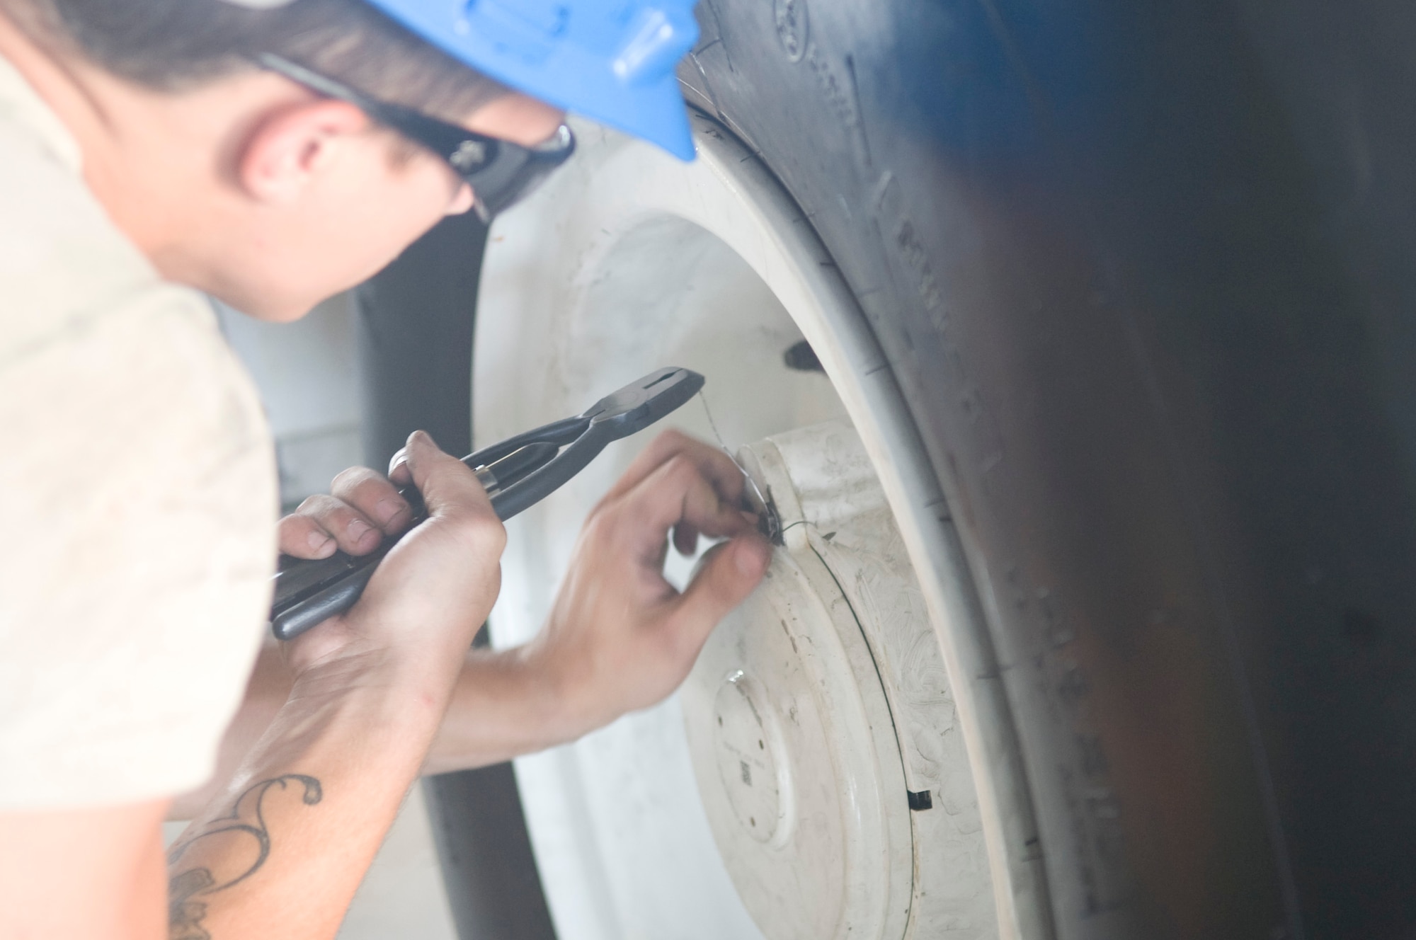
[(370, 98), (279, 55), (261, 54), (255, 57), (255, 62), (313, 92), (347, 101), (385, 127), (436, 153), (472, 187), (472, 208), (483, 222), (490, 222), (493, 215), (510, 208), (541, 185), (552, 170), (575, 153), (575, 134), (565, 125), (561, 125), (545, 143), (523, 147), (510, 140), (489, 137), (438, 120), (404, 105)]

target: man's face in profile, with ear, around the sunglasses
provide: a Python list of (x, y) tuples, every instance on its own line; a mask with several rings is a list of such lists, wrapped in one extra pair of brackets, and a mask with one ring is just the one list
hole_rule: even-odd
[[(205, 275), (195, 286), (262, 320), (304, 316), (473, 202), (440, 157), (351, 105), (319, 102), (312, 110), (319, 113), (252, 136), (236, 170), (245, 198), (227, 214), (234, 227), (202, 238)], [(562, 119), (555, 108), (510, 95), (463, 125), (534, 146)]]

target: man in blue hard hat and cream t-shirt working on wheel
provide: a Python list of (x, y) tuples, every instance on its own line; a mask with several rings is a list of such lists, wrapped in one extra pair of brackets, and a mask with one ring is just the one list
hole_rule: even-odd
[[(687, 16), (0, 0), (0, 936), (331, 937), (435, 740), (474, 766), (650, 705), (756, 585), (736, 469), (664, 436), (592, 514), (541, 636), (469, 654), (504, 532), (413, 435), (392, 478), (430, 518), (287, 646), (289, 691), (173, 847), (164, 903), (160, 821), (211, 774), (276, 551), (268, 433), (197, 292), (300, 316), (443, 214), (515, 198), (561, 108), (687, 156)], [(353, 470), (279, 546), (367, 552), (406, 520)], [(729, 539), (683, 596), (670, 532)]]

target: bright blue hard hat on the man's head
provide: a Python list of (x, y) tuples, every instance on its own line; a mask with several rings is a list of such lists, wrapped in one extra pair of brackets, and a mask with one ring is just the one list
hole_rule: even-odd
[(365, 0), (532, 98), (694, 159), (674, 67), (695, 0)]

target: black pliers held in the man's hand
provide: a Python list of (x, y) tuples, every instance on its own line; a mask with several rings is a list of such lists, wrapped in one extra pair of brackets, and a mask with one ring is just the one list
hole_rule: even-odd
[[(649, 428), (678, 409), (704, 385), (704, 377), (664, 368), (606, 395), (575, 418), (528, 430), (463, 457), (491, 497), (497, 517), (510, 520), (583, 470), (612, 440)], [(409, 528), (428, 518), (412, 486), (399, 490), (413, 510)], [(280, 556), (270, 604), (270, 630), (280, 640), (300, 636), (314, 624), (354, 606), (378, 562), (398, 544), (388, 539), (368, 555), (336, 552), (306, 561)]]

